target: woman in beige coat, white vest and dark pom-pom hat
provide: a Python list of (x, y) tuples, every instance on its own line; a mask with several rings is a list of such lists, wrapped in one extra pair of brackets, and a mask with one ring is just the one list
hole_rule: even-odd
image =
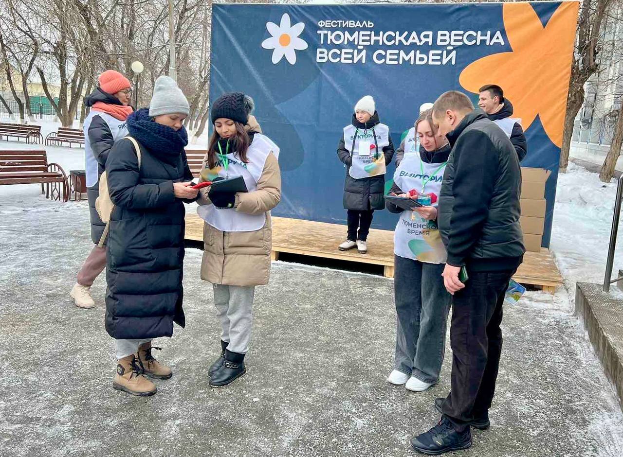
[(205, 221), (201, 279), (212, 283), (221, 323), (221, 356), (208, 370), (213, 387), (246, 372), (255, 286), (267, 284), (270, 276), (270, 210), (281, 199), (279, 148), (249, 128), (252, 109), (253, 100), (244, 93), (226, 93), (212, 103), (214, 133), (200, 180), (242, 176), (248, 192), (204, 187), (197, 200)]

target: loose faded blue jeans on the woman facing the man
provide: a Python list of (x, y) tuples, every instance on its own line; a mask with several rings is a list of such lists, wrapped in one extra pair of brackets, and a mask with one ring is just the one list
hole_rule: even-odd
[(441, 276), (445, 264), (394, 258), (398, 317), (394, 368), (434, 384), (444, 362), (445, 326), (452, 303)]

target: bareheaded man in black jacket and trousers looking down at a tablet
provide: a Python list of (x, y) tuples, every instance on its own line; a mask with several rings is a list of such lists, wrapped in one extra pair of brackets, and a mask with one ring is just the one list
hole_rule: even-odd
[[(452, 153), (440, 192), (438, 225), (448, 251), (444, 283), (452, 298), (452, 391), (437, 398), (437, 425), (412, 438), (431, 455), (467, 449), (470, 426), (490, 425), (502, 351), (502, 304), (508, 281), (523, 260), (519, 225), (519, 160), (500, 128), (463, 93), (441, 95), (433, 107)], [(459, 280), (465, 268), (468, 279)]]

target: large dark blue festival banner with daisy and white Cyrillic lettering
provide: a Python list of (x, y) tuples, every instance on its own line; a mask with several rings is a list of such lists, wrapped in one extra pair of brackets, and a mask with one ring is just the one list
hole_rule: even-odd
[[(245, 92), (280, 146), (274, 215), (346, 223), (336, 149), (359, 98), (372, 95), (396, 149), (419, 106), (447, 90), (477, 102), (497, 84), (528, 140), (524, 167), (552, 171), (549, 245), (578, 2), (286, 5), (214, 4), (210, 99)], [(394, 164), (388, 166), (387, 181)], [(393, 230), (378, 211), (373, 227)]]

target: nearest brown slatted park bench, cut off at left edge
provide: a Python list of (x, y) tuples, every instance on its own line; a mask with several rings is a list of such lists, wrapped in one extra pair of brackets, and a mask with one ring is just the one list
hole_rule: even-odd
[(45, 151), (0, 149), (0, 186), (41, 184), (41, 193), (52, 200), (69, 198), (67, 175), (59, 164), (47, 163)]

